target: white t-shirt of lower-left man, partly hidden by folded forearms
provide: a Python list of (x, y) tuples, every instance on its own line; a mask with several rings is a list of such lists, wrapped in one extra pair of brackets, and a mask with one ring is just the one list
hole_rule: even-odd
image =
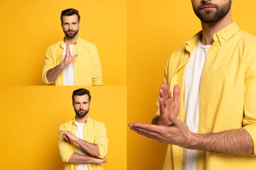
[[(84, 140), (84, 133), (83, 133), (83, 127), (84, 127), (84, 123), (79, 123), (76, 122), (77, 125), (77, 130), (76, 130), (76, 137)], [(77, 148), (77, 153), (81, 154), (81, 155), (86, 155), (85, 151), (83, 148), (81, 148), (79, 146), (79, 144), (76, 144), (76, 148)], [(83, 163), (83, 164), (78, 164), (78, 170), (88, 170), (88, 164), (87, 163)]]

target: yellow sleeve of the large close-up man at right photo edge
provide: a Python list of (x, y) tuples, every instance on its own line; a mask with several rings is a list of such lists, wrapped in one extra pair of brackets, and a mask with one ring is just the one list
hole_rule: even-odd
[(253, 156), (256, 155), (256, 57), (250, 62), (244, 78), (243, 128), (253, 140)]

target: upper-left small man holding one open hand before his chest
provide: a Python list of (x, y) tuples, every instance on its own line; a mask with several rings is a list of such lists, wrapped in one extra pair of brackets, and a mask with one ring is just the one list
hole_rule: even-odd
[(42, 74), (48, 85), (102, 85), (102, 68), (96, 45), (79, 37), (76, 9), (61, 12), (64, 39), (47, 48)]

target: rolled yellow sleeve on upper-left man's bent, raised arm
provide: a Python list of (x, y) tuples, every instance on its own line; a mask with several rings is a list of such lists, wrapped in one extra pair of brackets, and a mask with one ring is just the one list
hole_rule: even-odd
[(45, 85), (49, 85), (52, 82), (48, 82), (47, 78), (46, 78), (46, 74), (47, 74), (47, 71), (54, 68), (54, 65), (53, 65), (53, 60), (52, 60), (52, 51), (50, 49), (50, 47), (47, 48), (47, 51), (46, 51), (46, 56), (45, 56), (45, 59), (44, 59), (44, 69), (43, 69), (43, 74), (42, 74), (42, 79), (43, 79), (43, 82)]

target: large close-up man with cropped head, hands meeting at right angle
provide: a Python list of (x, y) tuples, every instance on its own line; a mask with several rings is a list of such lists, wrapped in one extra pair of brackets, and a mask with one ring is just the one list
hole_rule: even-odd
[(163, 170), (256, 169), (256, 37), (232, 1), (192, 0), (202, 31), (169, 57), (154, 125), (129, 124), (169, 144)]

